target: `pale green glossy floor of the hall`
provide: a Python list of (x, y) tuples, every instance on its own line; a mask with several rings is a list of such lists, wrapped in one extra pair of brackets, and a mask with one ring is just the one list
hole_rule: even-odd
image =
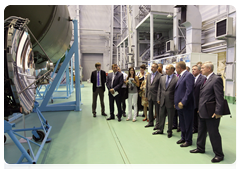
[[(92, 84), (84, 82), (82, 88), (82, 111), (43, 112), (52, 125), (51, 143), (47, 143), (34, 169), (237, 169), (238, 168), (238, 105), (229, 104), (232, 117), (221, 120), (224, 161), (211, 163), (214, 157), (207, 138), (205, 154), (191, 154), (196, 148), (197, 134), (193, 135), (193, 145), (181, 148), (176, 144), (180, 132), (173, 130), (173, 137), (167, 138), (166, 128), (163, 135), (152, 135), (153, 128), (144, 128), (147, 124), (142, 117), (136, 122), (122, 122), (117, 119), (107, 121), (100, 115), (98, 100), (97, 117), (93, 118)], [(63, 95), (58, 93), (56, 95)], [(54, 99), (54, 103), (74, 100)], [(106, 113), (109, 116), (108, 94), (105, 92)], [(40, 103), (40, 101), (39, 101)], [(115, 110), (117, 110), (115, 106)], [(142, 113), (140, 113), (142, 115)], [(107, 117), (108, 117), (107, 116)], [(40, 126), (36, 113), (25, 116), (26, 128)], [(22, 128), (22, 119), (16, 121), (16, 127)], [(23, 133), (22, 133), (23, 134)], [(6, 135), (7, 136), (7, 135)], [(27, 132), (27, 136), (31, 136)], [(23, 144), (27, 148), (27, 144)], [(36, 153), (36, 146), (33, 146)], [(21, 153), (7, 136), (4, 144), (4, 162), (16, 163)], [(27, 168), (27, 167), (22, 167)]]

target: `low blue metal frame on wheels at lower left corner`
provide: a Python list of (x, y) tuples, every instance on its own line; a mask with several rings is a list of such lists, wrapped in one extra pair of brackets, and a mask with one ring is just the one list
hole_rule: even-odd
[[(38, 158), (42, 152), (42, 149), (45, 145), (46, 142), (50, 142), (51, 139), (48, 138), (49, 136), (49, 133), (52, 129), (52, 126), (50, 126), (46, 119), (43, 117), (42, 113), (40, 112), (40, 110), (37, 108), (38, 106), (38, 103), (36, 103), (36, 112), (37, 112), (37, 115), (38, 115), (38, 118), (41, 122), (41, 127), (33, 127), (33, 128), (26, 128), (26, 129), (12, 129), (13, 127), (15, 127), (15, 124), (11, 124), (9, 122), (7, 122), (6, 120), (4, 120), (4, 133), (7, 133), (10, 138), (13, 140), (13, 142), (16, 144), (16, 146), (18, 147), (18, 149), (21, 151), (22, 155), (21, 157), (19, 158), (19, 160), (17, 161), (17, 163), (14, 163), (14, 164), (8, 164), (7, 162), (5, 162), (4, 164), (4, 169), (8, 169), (8, 168), (13, 168), (13, 167), (23, 167), (23, 166), (31, 166), (31, 165), (34, 165), (37, 163), (38, 161)], [(32, 131), (32, 134), (37, 138), (37, 139), (40, 139), (41, 137), (39, 136), (37, 130), (43, 130), (44, 132), (44, 139), (42, 140), (42, 143), (41, 145), (32, 141), (32, 140), (29, 140), (28, 138), (18, 134), (17, 132), (22, 132), (22, 131)], [(26, 151), (26, 149), (22, 146), (22, 144), (19, 142), (19, 140), (17, 139), (16, 136), (19, 136), (21, 138), (24, 138), (27, 143), (28, 143), (28, 147), (29, 147), (29, 152)], [(37, 146), (39, 146), (39, 149), (37, 151), (37, 154), (34, 155), (34, 152), (33, 152), (33, 149), (30, 145), (30, 143), (32, 144), (35, 144)], [(31, 155), (30, 155), (31, 154)], [(27, 162), (22, 162), (23, 159), (26, 158), (27, 159)]]

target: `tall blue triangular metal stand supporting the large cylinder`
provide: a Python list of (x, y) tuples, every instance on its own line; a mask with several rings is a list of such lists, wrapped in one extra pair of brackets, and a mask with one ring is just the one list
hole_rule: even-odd
[[(56, 75), (54, 81), (51, 83), (46, 95), (44, 96), (42, 104), (39, 107), (39, 110), (41, 110), (41, 111), (63, 111), (63, 110), (81, 111), (81, 109), (80, 109), (81, 87), (80, 87), (80, 73), (79, 73), (78, 24), (77, 24), (77, 20), (73, 20), (73, 24), (74, 24), (74, 43), (73, 43), (72, 47), (70, 48), (67, 56), (65, 57), (65, 60), (63, 61), (62, 66), (58, 71), (58, 74)], [(51, 99), (51, 96), (52, 96), (53, 92), (55, 91), (55, 88), (58, 85), (58, 82), (59, 82), (60, 78), (62, 77), (62, 74), (66, 70), (66, 67), (68, 66), (68, 63), (71, 60), (73, 54), (75, 54), (75, 94), (76, 94), (76, 101), (47, 105), (49, 100)]]

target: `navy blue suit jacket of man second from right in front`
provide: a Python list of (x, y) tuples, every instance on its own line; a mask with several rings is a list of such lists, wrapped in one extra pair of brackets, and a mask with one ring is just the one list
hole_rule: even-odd
[(174, 104), (177, 110), (180, 110), (178, 103), (182, 102), (183, 109), (190, 109), (194, 107), (194, 77), (188, 71), (178, 79), (174, 93)]

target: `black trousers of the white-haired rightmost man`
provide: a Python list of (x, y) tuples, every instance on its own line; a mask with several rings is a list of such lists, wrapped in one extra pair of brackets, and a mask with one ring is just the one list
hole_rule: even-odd
[(202, 119), (199, 118), (197, 148), (205, 151), (207, 132), (209, 134), (210, 142), (212, 144), (213, 152), (216, 156), (224, 157), (222, 151), (222, 139), (218, 131), (220, 118)]

